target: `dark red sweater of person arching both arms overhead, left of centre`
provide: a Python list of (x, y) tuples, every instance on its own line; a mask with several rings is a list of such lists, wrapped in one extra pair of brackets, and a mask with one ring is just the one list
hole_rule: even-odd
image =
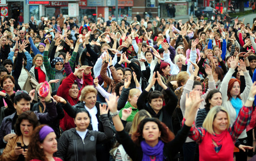
[[(67, 101), (70, 103), (70, 105), (74, 106), (76, 105), (76, 103), (78, 102), (78, 98), (81, 94), (81, 90), (80, 89), (78, 92), (78, 96), (77, 98), (72, 98), (69, 96), (69, 89), (72, 87), (72, 84), (74, 83), (74, 80), (76, 80), (77, 77), (71, 73), (69, 76), (67, 76), (67, 78), (65, 78), (61, 85), (58, 88), (57, 91), (57, 95), (61, 96), (62, 98), (67, 99)], [(93, 77), (91, 76), (91, 73), (88, 75), (83, 74), (83, 87), (85, 87), (86, 85), (93, 85)], [(59, 126), (63, 129), (63, 131), (65, 130), (69, 130), (70, 128), (74, 128), (75, 123), (74, 123), (74, 119), (71, 118), (64, 110), (65, 116), (63, 119), (61, 119), (59, 121)]]

